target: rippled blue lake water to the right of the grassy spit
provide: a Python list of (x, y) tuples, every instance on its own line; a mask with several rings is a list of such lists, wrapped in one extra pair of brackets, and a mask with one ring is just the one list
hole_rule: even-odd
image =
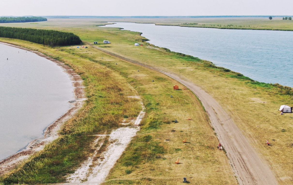
[(256, 81), (293, 87), (293, 32), (130, 22), (117, 22), (106, 27), (142, 32), (142, 36), (156, 46), (209, 60)]

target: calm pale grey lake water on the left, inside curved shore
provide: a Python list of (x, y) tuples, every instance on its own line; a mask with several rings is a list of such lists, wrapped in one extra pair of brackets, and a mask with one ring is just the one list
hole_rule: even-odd
[(41, 138), (71, 107), (74, 89), (62, 70), (35, 53), (0, 44), (0, 160)]

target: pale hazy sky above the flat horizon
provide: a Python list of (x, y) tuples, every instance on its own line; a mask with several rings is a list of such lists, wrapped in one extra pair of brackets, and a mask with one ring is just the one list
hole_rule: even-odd
[(3, 0), (0, 16), (292, 15), (292, 0)]

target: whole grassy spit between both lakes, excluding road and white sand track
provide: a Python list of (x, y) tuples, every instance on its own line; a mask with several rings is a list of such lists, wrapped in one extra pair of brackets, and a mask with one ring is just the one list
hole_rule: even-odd
[[(193, 81), (229, 113), (270, 165), (279, 184), (292, 184), (293, 164), (289, 161), (293, 152), (293, 116), (281, 116), (277, 111), (282, 104), (293, 104), (292, 88), (255, 82), (208, 61), (148, 44), (138, 32), (97, 27), (102, 24), (97, 22), (59, 19), (13, 26), (72, 32), (91, 43), (109, 40), (111, 44), (97, 46)], [(181, 184), (183, 177), (190, 183), (237, 184), (225, 153), (217, 151), (216, 135), (200, 102), (180, 84), (181, 90), (174, 91), (176, 81), (91, 47), (51, 48), (15, 39), (0, 38), (0, 41), (39, 50), (64, 61), (82, 76), (88, 96), (84, 108), (64, 125), (61, 137), (2, 177), (2, 183), (64, 182), (66, 174), (92, 155), (87, 148), (93, 140), (89, 135), (110, 132), (124, 115), (138, 114), (139, 103), (124, 98), (138, 93), (146, 107), (141, 131), (104, 184)], [(134, 46), (136, 42), (143, 46)], [(190, 121), (186, 119), (189, 116)], [(179, 123), (174, 123), (175, 119)], [(182, 142), (185, 138), (186, 145)], [(272, 146), (266, 146), (267, 139)], [(180, 165), (175, 164), (178, 158)]]

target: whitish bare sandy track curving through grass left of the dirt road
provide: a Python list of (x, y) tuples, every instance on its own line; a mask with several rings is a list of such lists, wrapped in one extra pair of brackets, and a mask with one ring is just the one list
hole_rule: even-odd
[[(140, 99), (138, 96), (131, 96), (130, 98)], [(93, 146), (99, 141), (103, 142), (96, 147), (93, 156), (89, 157), (79, 169), (67, 178), (67, 183), (98, 185), (105, 181), (110, 170), (114, 167), (116, 161), (120, 158), (123, 151), (130, 143), (132, 137), (134, 137), (136, 132), (139, 131), (138, 125), (142, 121), (145, 114), (145, 108), (142, 101), (140, 101), (140, 103), (142, 105), (142, 111), (139, 113), (134, 123), (133, 121), (129, 122), (133, 123), (132, 126), (118, 128), (113, 130), (109, 135), (95, 135), (98, 138), (93, 143)], [(107, 143), (110, 144), (106, 145), (107, 148), (100, 154), (99, 150), (101, 149), (106, 137), (108, 137)]]

